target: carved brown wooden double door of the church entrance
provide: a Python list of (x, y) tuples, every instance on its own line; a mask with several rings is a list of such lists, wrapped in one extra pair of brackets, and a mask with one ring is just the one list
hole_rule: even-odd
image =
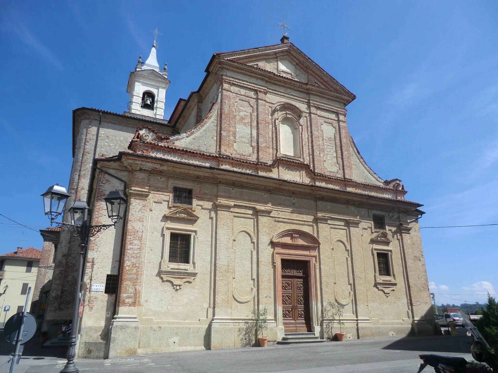
[(310, 332), (308, 262), (282, 260), (282, 316), (285, 332)]

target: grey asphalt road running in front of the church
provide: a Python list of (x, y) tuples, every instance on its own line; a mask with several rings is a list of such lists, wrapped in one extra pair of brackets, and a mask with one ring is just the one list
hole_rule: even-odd
[[(187, 351), (108, 360), (78, 359), (76, 365), (83, 373), (415, 373), (420, 365), (418, 355), (423, 353), (462, 356), (471, 360), (469, 340), (462, 334), (349, 340)], [(4, 361), (7, 357), (1, 358)], [(64, 360), (60, 358), (25, 356), (16, 367), (16, 372), (55, 373), (63, 367)], [(426, 368), (427, 372), (431, 372), (429, 368)]]

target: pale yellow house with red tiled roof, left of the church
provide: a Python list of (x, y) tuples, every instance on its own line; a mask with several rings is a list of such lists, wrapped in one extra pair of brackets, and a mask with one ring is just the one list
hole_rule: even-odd
[(40, 258), (41, 250), (34, 247), (18, 247), (12, 253), (0, 255), (1, 326), (10, 316), (24, 310), (30, 287), (28, 304), (31, 304)]

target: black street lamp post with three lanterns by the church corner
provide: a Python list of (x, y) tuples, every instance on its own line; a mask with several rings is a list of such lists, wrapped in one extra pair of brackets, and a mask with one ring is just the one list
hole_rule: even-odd
[(68, 194), (65, 187), (58, 184), (49, 187), (45, 193), (42, 194), (43, 204), (45, 207), (45, 215), (50, 218), (50, 224), (59, 224), (61, 228), (67, 229), (73, 236), (80, 239), (79, 246), (79, 265), (78, 265), (78, 278), (76, 280), (76, 294), (74, 299), (74, 315), (73, 325), (71, 327), (71, 337), (69, 338), (69, 348), (67, 350), (67, 362), (61, 373), (78, 373), (79, 369), (74, 364), (76, 356), (76, 339), (78, 335), (78, 328), (80, 325), (79, 307), (82, 299), (81, 294), (81, 280), (83, 275), (83, 262), (85, 260), (85, 253), (88, 245), (88, 238), (95, 236), (102, 230), (110, 227), (116, 228), (116, 224), (123, 219), (124, 212), (126, 211), (127, 200), (123, 192), (120, 190), (112, 190), (104, 197), (106, 201), (107, 214), (113, 221), (113, 224), (102, 225), (89, 225), (88, 224), (88, 207), (85, 201), (75, 201), (69, 213), (71, 215), (71, 224), (54, 221), (57, 216), (62, 214), (66, 199), (71, 195)]

